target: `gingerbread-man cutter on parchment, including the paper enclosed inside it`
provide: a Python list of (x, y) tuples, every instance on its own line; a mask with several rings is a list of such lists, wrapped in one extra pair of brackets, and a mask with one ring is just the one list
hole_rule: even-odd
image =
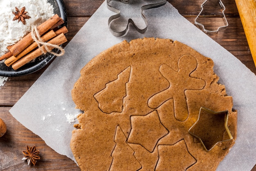
[[(107, 0), (108, 9), (117, 13), (108, 19), (110, 32), (117, 37), (123, 36), (128, 31), (129, 24), (132, 24), (139, 33), (145, 33), (148, 22), (144, 10), (161, 7), (164, 4), (166, 0)], [(136, 21), (128, 16), (139, 19)]]

